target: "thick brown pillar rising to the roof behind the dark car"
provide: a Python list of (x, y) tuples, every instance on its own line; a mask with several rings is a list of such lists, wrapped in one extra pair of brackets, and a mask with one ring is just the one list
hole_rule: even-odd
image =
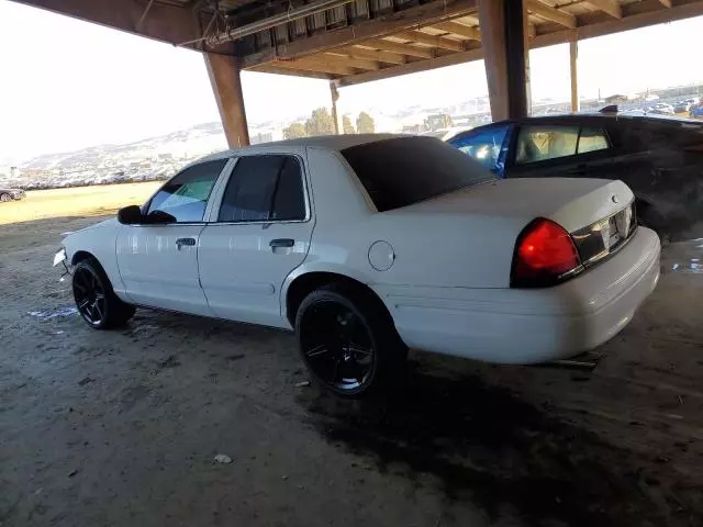
[(527, 114), (522, 0), (478, 0), (493, 121)]

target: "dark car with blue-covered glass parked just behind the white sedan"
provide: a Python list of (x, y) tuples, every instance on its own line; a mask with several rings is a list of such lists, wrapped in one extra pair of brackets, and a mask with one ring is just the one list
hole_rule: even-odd
[(501, 121), (448, 143), (501, 178), (624, 181), (640, 224), (660, 236), (703, 236), (703, 125), (640, 111)]

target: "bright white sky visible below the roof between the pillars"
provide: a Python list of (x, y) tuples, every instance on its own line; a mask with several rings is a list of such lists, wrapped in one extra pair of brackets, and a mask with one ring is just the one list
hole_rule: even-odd
[[(581, 97), (701, 81), (689, 53), (701, 32), (698, 18), (581, 41)], [(8, 0), (0, 0), (0, 165), (220, 119), (203, 59), (189, 49)], [(534, 100), (568, 100), (568, 57), (566, 44), (531, 52)], [(243, 89), (249, 125), (331, 104), (324, 80), (245, 71)], [(487, 92), (479, 60), (343, 88), (338, 104), (356, 114)]]

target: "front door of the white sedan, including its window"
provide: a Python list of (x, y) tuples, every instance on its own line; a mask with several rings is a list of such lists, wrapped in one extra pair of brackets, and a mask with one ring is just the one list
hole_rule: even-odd
[[(210, 194), (226, 164), (219, 159), (186, 168), (144, 206), (144, 224), (122, 226), (118, 265), (135, 304), (211, 314), (198, 276), (198, 243)], [(172, 220), (148, 223), (163, 213)]]

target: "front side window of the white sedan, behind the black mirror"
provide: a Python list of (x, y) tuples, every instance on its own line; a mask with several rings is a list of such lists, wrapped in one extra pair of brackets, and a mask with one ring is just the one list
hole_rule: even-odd
[(170, 214), (177, 223), (202, 222), (210, 193), (227, 159), (200, 162), (169, 180), (148, 204), (147, 215)]

